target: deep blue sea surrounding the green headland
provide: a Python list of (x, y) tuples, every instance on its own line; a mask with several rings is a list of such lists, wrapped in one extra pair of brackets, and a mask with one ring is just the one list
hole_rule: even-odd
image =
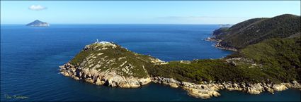
[(165, 61), (222, 58), (232, 52), (203, 40), (217, 28), (219, 25), (1, 25), (1, 101), (300, 101), (296, 89), (274, 95), (222, 90), (220, 97), (201, 99), (161, 84), (121, 89), (58, 74), (59, 65), (96, 39)]

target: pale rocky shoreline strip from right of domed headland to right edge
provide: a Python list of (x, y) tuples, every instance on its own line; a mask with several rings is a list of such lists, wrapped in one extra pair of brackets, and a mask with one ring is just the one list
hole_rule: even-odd
[(166, 84), (170, 87), (178, 88), (181, 87), (188, 91), (190, 96), (195, 98), (211, 98), (212, 96), (220, 96), (218, 92), (222, 89), (227, 89), (229, 91), (244, 91), (249, 94), (260, 94), (263, 91), (269, 91), (271, 94), (274, 91), (283, 91), (285, 89), (300, 89), (301, 84), (297, 81), (289, 83), (280, 83), (280, 84), (266, 84), (266, 83), (236, 83), (236, 82), (203, 82), (203, 84), (195, 84), (191, 82), (179, 82), (173, 78), (164, 78), (164, 77), (152, 77), (152, 82), (159, 84)]

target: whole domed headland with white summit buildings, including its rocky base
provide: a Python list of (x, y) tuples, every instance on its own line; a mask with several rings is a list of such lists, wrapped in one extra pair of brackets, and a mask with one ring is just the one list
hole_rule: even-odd
[(133, 53), (110, 42), (85, 46), (69, 63), (60, 66), (62, 75), (93, 84), (135, 88), (151, 82), (145, 67), (161, 60)]

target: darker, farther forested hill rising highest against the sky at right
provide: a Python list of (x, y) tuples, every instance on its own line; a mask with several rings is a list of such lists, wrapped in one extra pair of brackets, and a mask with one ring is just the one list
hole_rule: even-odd
[(220, 39), (220, 44), (234, 49), (256, 44), (264, 39), (285, 38), (294, 34), (300, 34), (300, 16), (278, 15), (273, 18), (254, 18), (233, 25), (222, 32), (215, 32), (215, 39)]

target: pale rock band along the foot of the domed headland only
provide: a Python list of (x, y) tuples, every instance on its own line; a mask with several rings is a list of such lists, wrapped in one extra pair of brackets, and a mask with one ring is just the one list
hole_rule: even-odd
[(98, 70), (95, 69), (76, 68), (70, 63), (59, 66), (59, 68), (60, 73), (64, 76), (72, 77), (76, 80), (83, 80), (92, 84), (106, 85), (109, 87), (137, 88), (151, 82), (150, 77), (125, 77), (118, 75), (114, 70), (98, 72)]

